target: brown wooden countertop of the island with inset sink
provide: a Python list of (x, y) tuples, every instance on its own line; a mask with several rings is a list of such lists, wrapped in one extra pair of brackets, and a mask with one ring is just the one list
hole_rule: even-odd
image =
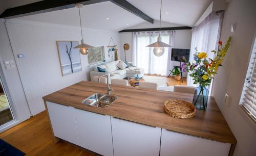
[(209, 97), (206, 111), (197, 110), (195, 117), (191, 119), (177, 119), (164, 113), (164, 102), (170, 98), (191, 102), (193, 95), (123, 86), (112, 88), (114, 88), (113, 94), (117, 95), (118, 99), (107, 108), (91, 107), (81, 103), (83, 99), (94, 93), (106, 93), (106, 84), (95, 82), (81, 81), (44, 96), (43, 99), (65, 106), (236, 145), (237, 140), (230, 131), (214, 97)]

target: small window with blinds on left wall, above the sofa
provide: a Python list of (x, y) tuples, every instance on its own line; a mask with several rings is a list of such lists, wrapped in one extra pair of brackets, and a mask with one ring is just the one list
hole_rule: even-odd
[(104, 46), (88, 48), (88, 63), (94, 65), (105, 60)]

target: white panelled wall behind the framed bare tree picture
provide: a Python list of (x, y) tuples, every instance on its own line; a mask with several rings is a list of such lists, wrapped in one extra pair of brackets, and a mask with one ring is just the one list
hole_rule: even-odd
[[(32, 115), (45, 110), (42, 96), (89, 79), (90, 67), (87, 56), (81, 55), (82, 71), (62, 76), (59, 65), (56, 41), (79, 41), (81, 34), (77, 28), (63, 28), (49, 24), (24, 24), (7, 22), (15, 61), (28, 105)], [(86, 43), (93, 46), (107, 46), (111, 37), (116, 44), (119, 41), (117, 32), (84, 30)], [(105, 48), (106, 60), (110, 60)], [(25, 58), (17, 58), (24, 54)]]

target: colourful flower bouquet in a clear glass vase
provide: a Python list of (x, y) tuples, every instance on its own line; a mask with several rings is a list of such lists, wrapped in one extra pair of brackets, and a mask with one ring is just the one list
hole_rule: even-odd
[(207, 58), (207, 53), (198, 52), (195, 48), (196, 53), (194, 54), (194, 62), (188, 62), (185, 57), (182, 57), (184, 60), (183, 68), (186, 68), (186, 71), (189, 73), (189, 76), (194, 80), (194, 84), (199, 84), (199, 87), (195, 89), (193, 104), (197, 109), (205, 110), (207, 107), (208, 100), (208, 89), (206, 86), (209, 86), (212, 79), (214, 79), (215, 74), (219, 66), (222, 66), (227, 51), (231, 43), (231, 37), (228, 38), (227, 43), (222, 47), (222, 41), (219, 41), (218, 50), (212, 50), (211, 52), (216, 54), (214, 59)]

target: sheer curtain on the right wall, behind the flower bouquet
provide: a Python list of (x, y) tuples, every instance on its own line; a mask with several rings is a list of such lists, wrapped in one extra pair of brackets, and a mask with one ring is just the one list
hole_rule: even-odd
[[(211, 12), (199, 25), (192, 29), (189, 62), (194, 62), (196, 47), (199, 52), (204, 51), (209, 58), (214, 58), (214, 53), (211, 53), (211, 50), (217, 50), (218, 48), (223, 14), (224, 11)], [(187, 85), (196, 86), (193, 83), (194, 81), (187, 75)]]

